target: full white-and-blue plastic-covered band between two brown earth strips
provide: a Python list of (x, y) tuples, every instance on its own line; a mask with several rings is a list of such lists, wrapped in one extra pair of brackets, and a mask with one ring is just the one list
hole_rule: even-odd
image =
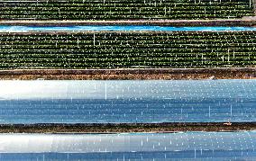
[(0, 123), (256, 121), (256, 80), (0, 81)]

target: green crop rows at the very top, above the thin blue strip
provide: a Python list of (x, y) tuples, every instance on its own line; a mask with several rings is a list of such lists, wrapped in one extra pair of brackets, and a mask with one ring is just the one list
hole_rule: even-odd
[(222, 19), (252, 16), (250, 0), (1, 1), (0, 20)]

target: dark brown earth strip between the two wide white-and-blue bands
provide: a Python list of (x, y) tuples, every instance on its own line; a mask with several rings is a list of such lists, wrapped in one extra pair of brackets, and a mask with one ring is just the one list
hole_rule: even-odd
[(217, 123), (87, 123), (0, 125), (0, 133), (120, 133), (256, 130), (256, 122)]

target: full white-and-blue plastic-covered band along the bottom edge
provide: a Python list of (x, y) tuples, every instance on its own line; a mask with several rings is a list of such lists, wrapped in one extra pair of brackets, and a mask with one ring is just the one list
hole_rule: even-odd
[(254, 160), (256, 132), (1, 134), (1, 160)]

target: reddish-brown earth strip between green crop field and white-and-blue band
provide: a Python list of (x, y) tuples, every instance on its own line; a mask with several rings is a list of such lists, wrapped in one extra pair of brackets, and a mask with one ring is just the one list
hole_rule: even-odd
[(0, 70), (1, 80), (190, 80), (209, 78), (255, 79), (256, 67)]

